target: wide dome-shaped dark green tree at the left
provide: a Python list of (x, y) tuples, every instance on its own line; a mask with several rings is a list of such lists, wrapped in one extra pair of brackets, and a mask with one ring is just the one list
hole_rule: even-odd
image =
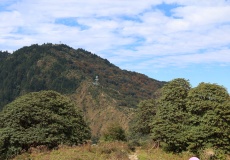
[(90, 139), (82, 113), (70, 99), (55, 91), (26, 94), (0, 112), (1, 158), (30, 147), (75, 145)]

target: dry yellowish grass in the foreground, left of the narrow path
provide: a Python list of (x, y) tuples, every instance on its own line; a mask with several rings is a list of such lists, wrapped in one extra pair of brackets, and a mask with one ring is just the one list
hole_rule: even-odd
[(100, 143), (92, 146), (60, 146), (52, 151), (23, 153), (14, 160), (128, 160), (129, 148), (123, 142)]

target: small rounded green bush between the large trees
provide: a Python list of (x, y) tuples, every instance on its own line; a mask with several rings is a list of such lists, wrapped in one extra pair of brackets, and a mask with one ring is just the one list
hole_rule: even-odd
[(126, 141), (125, 130), (119, 123), (112, 123), (102, 135), (105, 141)]

